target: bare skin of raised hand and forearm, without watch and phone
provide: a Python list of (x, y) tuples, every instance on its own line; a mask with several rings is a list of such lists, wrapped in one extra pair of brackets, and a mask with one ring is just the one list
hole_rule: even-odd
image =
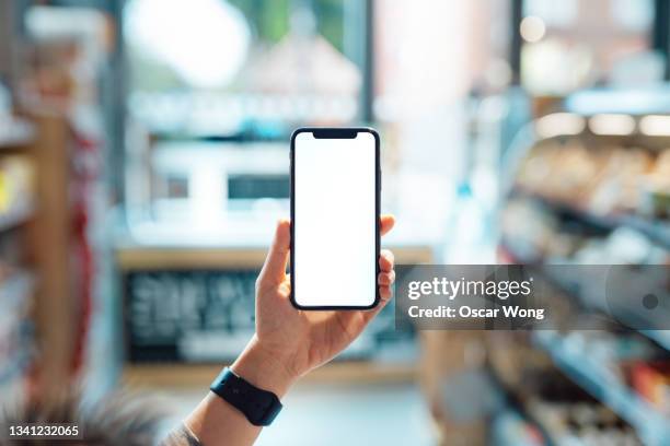
[[(381, 218), (381, 234), (393, 227), (391, 215)], [(393, 254), (380, 253), (381, 302), (369, 310), (302, 312), (290, 302), (291, 284), (286, 273), (290, 251), (290, 222), (279, 221), (275, 239), (256, 281), (256, 333), (231, 365), (233, 373), (254, 386), (281, 398), (309, 371), (328, 362), (350, 344), (391, 298), (395, 281)], [(323, 285), (349, 292), (337, 266), (323, 258)], [(249, 446), (261, 433), (223, 399), (209, 392), (184, 420), (185, 426), (205, 446)]]

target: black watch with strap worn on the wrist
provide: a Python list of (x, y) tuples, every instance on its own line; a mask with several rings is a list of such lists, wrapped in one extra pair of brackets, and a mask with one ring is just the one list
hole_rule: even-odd
[(247, 383), (226, 367), (209, 387), (238, 409), (255, 426), (269, 426), (281, 410), (279, 398)]

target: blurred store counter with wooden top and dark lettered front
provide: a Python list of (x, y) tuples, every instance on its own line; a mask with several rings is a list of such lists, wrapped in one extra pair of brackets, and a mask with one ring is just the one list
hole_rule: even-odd
[[(124, 286), (129, 385), (200, 385), (231, 362), (254, 329), (254, 284), (282, 209), (229, 212), (220, 224), (135, 219), (116, 236)], [(396, 263), (431, 262), (439, 238), (392, 232)], [(393, 306), (315, 380), (412, 379), (414, 333), (396, 332)]]

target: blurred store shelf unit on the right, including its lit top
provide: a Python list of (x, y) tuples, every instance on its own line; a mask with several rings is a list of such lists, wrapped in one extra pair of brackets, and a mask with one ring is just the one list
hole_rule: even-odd
[[(636, 306), (642, 282), (627, 273), (667, 268), (670, 260), (669, 93), (667, 87), (582, 92), (530, 124), (533, 130), (520, 133), (512, 150), (518, 157), (508, 159), (499, 245), (504, 261), (532, 266), (569, 307), (567, 320), (556, 322), (562, 333), (535, 330), (530, 347), (546, 352), (552, 368), (592, 396), (593, 407), (611, 409), (645, 445), (670, 444), (665, 402), (654, 397), (661, 388), (639, 384), (639, 369), (665, 376), (670, 334), (662, 310)], [(581, 268), (581, 274), (562, 273), (556, 265)], [(622, 280), (633, 289), (622, 283), (616, 293), (605, 293), (589, 266), (625, 269)], [(667, 289), (659, 290), (662, 302)], [(598, 329), (566, 328), (589, 320)], [(533, 354), (519, 363), (528, 357)], [(493, 368), (501, 367), (494, 362)], [(501, 382), (551, 443), (564, 444), (547, 423), (547, 408), (534, 408), (538, 395)]]

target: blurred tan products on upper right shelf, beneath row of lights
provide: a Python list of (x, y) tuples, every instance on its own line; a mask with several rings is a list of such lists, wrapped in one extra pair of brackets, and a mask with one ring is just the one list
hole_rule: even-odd
[(517, 186), (597, 215), (669, 216), (670, 149), (571, 138), (532, 149)]

